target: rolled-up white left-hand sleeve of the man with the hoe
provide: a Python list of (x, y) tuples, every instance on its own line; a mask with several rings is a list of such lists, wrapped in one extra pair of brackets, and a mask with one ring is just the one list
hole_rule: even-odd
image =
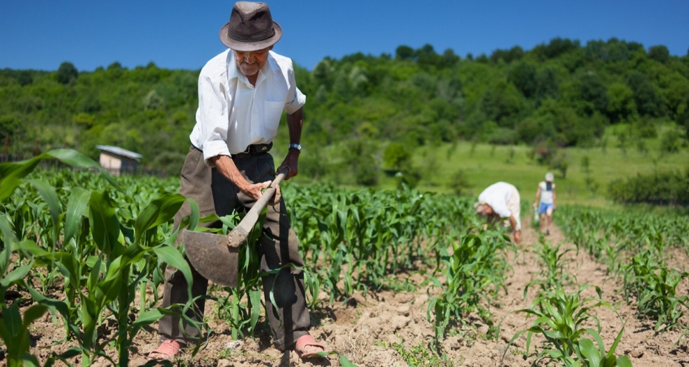
[(203, 160), (217, 155), (230, 155), (227, 148), (228, 109), (224, 86), (207, 75), (198, 79), (198, 110), (196, 121), (200, 127)]

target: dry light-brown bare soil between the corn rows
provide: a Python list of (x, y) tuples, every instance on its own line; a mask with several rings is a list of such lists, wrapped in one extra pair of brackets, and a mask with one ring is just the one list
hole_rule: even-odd
[[(538, 233), (529, 226), (528, 219), (524, 223), (523, 241), (517, 255), (509, 255), (513, 271), (506, 281), (507, 293), (491, 306), (496, 323), (500, 322), (499, 334), (495, 339), (486, 337), (488, 326), (472, 319), (472, 328), (451, 330), (450, 336), (442, 343), (443, 352), (449, 362), (448, 366), (532, 366), (545, 365), (536, 363), (536, 353), (543, 350), (542, 339), (534, 338), (529, 356), (523, 356), (526, 348), (526, 338), (522, 335), (508, 348), (510, 339), (521, 330), (530, 326), (533, 319), (526, 314), (515, 313), (519, 309), (529, 308), (535, 297), (536, 288), (529, 288), (524, 299), (524, 286), (532, 281), (542, 269), (539, 258), (534, 252), (538, 244)], [(572, 248), (565, 243), (562, 232), (553, 226), (547, 240), (553, 244), (562, 243), (563, 248)], [(577, 278), (579, 284), (598, 285), (603, 290), (603, 300), (616, 307), (622, 321), (613, 311), (605, 307), (593, 309), (593, 314), (600, 319), (602, 336), (607, 349), (622, 329), (626, 321), (622, 341), (617, 347), (617, 354), (626, 354), (633, 366), (638, 367), (676, 367), (689, 366), (689, 350), (687, 338), (681, 330), (671, 330), (656, 334), (654, 323), (640, 320), (635, 316), (633, 306), (627, 305), (619, 290), (619, 281), (607, 275), (605, 266), (590, 259), (586, 254), (568, 253), (569, 273)], [(669, 255), (676, 260), (676, 265), (685, 267), (687, 257), (685, 253), (677, 251)], [(434, 290), (429, 288), (418, 273), (399, 274), (400, 279), (407, 278), (416, 285), (413, 292), (368, 292), (357, 293), (347, 302), (330, 304), (324, 302), (322, 308), (312, 310), (311, 334), (316, 340), (325, 343), (330, 350), (335, 350), (347, 356), (356, 366), (408, 366), (402, 356), (393, 347), (395, 343), (404, 345), (407, 351), (417, 346), (427, 346), (434, 339), (434, 328), (427, 321), (427, 300)], [(689, 286), (681, 285), (681, 292), (686, 294)], [(595, 297), (593, 288), (584, 291), (588, 297)], [(210, 301), (209, 301), (210, 302)], [(28, 306), (28, 304), (27, 304)], [(207, 304), (206, 309), (212, 310), (213, 304)], [(211, 317), (207, 311), (207, 316)], [(686, 325), (686, 319), (683, 320)], [(231, 340), (231, 330), (217, 319), (209, 320), (212, 333), (207, 345), (195, 356), (185, 352), (174, 362), (176, 366), (340, 366), (337, 354), (330, 354), (328, 358), (318, 358), (301, 361), (295, 352), (279, 352), (270, 343), (270, 333), (267, 323), (259, 325), (254, 339), (237, 342)], [(593, 324), (591, 325), (593, 326)], [(114, 333), (115, 325), (103, 326), (103, 333)], [(157, 347), (158, 337), (155, 333), (157, 325), (142, 330), (134, 340), (131, 348), (130, 366), (142, 366), (146, 361), (146, 354)], [(65, 350), (70, 345), (58, 344), (63, 338), (64, 330), (58, 321), (46, 314), (44, 318), (32, 326), (32, 353), (44, 361), (52, 351)], [(0, 346), (0, 349), (3, 347)], [(4, 352), (4, 351), (3, 351)], [(115, 349), (108, 352), (112, 359), (116, 359)], [(3, 357), (4, 353), (0, 354)], [(78, 365), (79, 358), (71, 361)], [(0, 359), (0, 365), (5, 363)], [(106, 360), (99, 360), (94, 366), (109, 366)]]

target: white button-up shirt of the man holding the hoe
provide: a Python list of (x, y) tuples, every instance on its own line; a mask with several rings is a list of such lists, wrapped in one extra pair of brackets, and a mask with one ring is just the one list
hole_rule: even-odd
[(256, 86), (240, 72), (228, 49), (201, 69), (198, 110), (191, 143), (211, 157), (244, 152), (251, 144), (270, 143), (283, 110), (292, 114), (306, 103), (297, 88), (292, 60), (269, 52)]

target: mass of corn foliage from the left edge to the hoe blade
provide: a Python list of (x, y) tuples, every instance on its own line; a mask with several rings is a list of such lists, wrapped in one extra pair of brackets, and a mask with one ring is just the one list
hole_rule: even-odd
[[(40, 160), (53, 157), (73, 167), (99, 170), (110, 184), (108, 188), (115, 188), (115, 193), (110, 193), (108, 188), (83, 188), (87, 186), (83, 184), (72, 187), (74, 182), (59, 175), (56, 185), (49, 182), (47, 175), (26, 178), (33, 174)], [(19, 321), (21, 327), (16, 324), (11, 332), (0, 328), (0, 337), (6, 344), (8, 340), (17, 340), (17, 343), (10, 342), (12, 349), (8, 354), (11, 364), (20, 359), (27, 363), (32, 361), (32, 356), (26, 354), (26, 330), (32, 321), (49, 309), (53, 314), (60, 314), (67, 339), (73, 338), (79, 345), (65, 354), (53, 355), (51, 359), (63, 360), (80, 353), (83, 366), (89, 366), (98, 356), (116, 364), (104, 352), (112, 342), (117, 349), (119, 363), (127, 365), (129, 347), (136, 333), (157, 321), (164, 312), (172, 312), (166, 309), (132, 310), (140, 285), (150, 282), (149, 277), (160, 270), (162, 263), (175, 266), (191, 279), (186, 260), (170, 245), (176, 233), (165, 239), (159, 232), (161, 227), (167, 228), (184, 198), (179, 194), (162, 195), (134, 212), (126, 205), (120, 207), (114, 198), (126, 195), (122, 186), (96, 162), (73, 150), (51, 150), (32, 160), (5, 163), (0, 165), (0, 172), (3, 191), (0, 193), (0, 207), (5, 213), (0, 217), (0, 229), (4, 235), (2, 252), (6, 259), (11, 254), (16, 255), (18, 264), (13, 271), (8, 269), (6, 262), (0, 266), (5, 279), (0, 284), (0, 294), (4, 295), (8, 285), (14, 284), (27, 290), (36, 302), (25, 314), (23, 322), (18, 317), (5, 318), (8, 322)], [(95, 177), (88, 173), (84, 171), (83, 177)], [(66, 186), (60, 185), (65, 182)], [(18, 190), (20, 186), (24, 189)], [(14, 194), (11, 200), (8, 199), (10, 194)], [(131, 197), (135, 196), (132, 193)], [(31, 207), (30, 202), (38, 200), (46, 204), (35, 207), (34, 215), (42, 219), (32, 223), (18, 218), (27, 214), (21, 210), (22, 207)], [(198, 217), (198, 208), (196, 211)], [(11, 218), (11, 222), (5, 219), (6, 216)], [(127, 227), (127, 224), (131, 226)], [(18, 273), (23, 275), (16, 276)], [(46, 273), (49, 276), (44, 276)], [(33, 289), (32, 279), (39, 278), (41, 288), (45, 290), (55, 285), (58, 273), (63, 277), (64, 300), (53, 300)], [(191, 286), (188, 292), (191, 292)], [(145, 305), (145, 287), (141, 293), (141, 303)], [(16, 304), (6, 309), (3, 303), (1, 307), (4, 315), (18, 313)], [(103, 337), (98, 333), (98, 326), (103, 323), (106, 313), (119, 326), (114, 336)]]

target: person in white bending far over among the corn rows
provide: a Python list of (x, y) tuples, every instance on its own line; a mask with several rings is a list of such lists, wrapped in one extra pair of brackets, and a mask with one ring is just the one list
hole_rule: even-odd
[(488, 186), (474, 205), (476, 214), (487, 217), (487, 221), (495, 223), (506, 218), (510, 222), (515, 243), (522, 242), (522, 221), (520, 220), (519, 191), (515, 186), (506, 182), (496, 182)]

